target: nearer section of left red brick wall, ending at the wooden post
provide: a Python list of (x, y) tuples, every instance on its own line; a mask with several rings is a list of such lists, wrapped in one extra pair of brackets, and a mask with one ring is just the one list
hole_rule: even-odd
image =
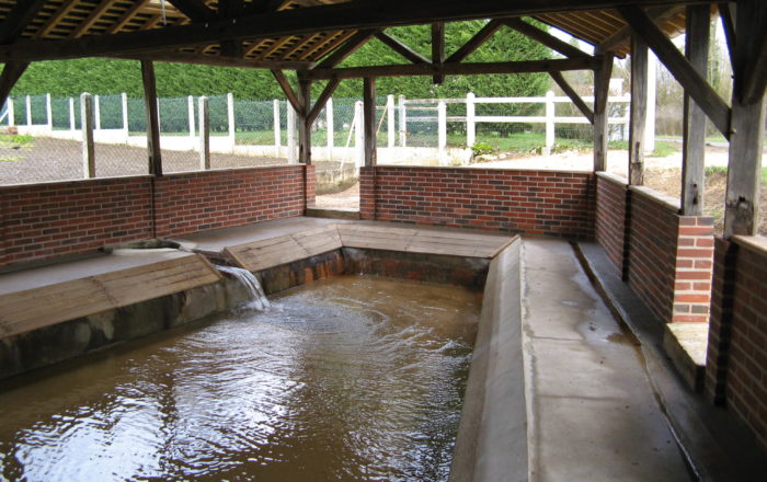
[(0, 188), (0, 265), (92, 251), (151, 236), (151, 177)]

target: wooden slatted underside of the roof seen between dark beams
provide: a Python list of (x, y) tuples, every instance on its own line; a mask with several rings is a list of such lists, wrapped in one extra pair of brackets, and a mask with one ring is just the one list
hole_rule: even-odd
[[(24, 0), (24, 2), (35, 1), (37, 0)], [(224, 5), (225, 2), (228, 5)], [(224, 8), (219, 12), (219, 0), (46, 0), (41, 2), (42, 7), (26, 24), (21, 37), (22, 39), (76, 39), (346, 2), (350, 0), (220, 0)], [(0, 0), (0, 22), (19, 3), (21, 2), (16, 0)], [(231, 4), (236, 4), (238, 10), (236, 13), (226, 13), (225, 8), (231, 9)], [(185, 7), (180, 10), (176, 5)], [(660, 18), (659, 23), (667, 34), (673, 36), (684, 31), (683, 7), (673, 10), (674, 13), (671, 15), (667, 14), (668, 7), (655, 8), (666, 12)], [(626, 23), (615, 10), (546, 13), (534, 18), (595, 46), (610, 38), (625, 37), (620, 33), (626, 32)], [(355, 33), (357, 33), (356, 30), (339, 28), (278, 38), (255, 38), (257, 35), (254, 35), (254, 39), (242, 39), (241, 46), (238, 46), (234, 51), (238, 53), (239, 59), (254, 64), (316, 64), (341, 47)], [(216, 42), (207, 45), (156, 49), (151, 50), (151, 54), (168, 57), (183, 53), (186, 58), (198, 58), (201, 64), (204, 64), (206, 58), (221, 57), (221, 45), (222, 43)], [(614, 50), (619, 56), (628, 54), (628, 38), (620, 39), (614, 46)], [(147, 51), (137, 53), (134, 57), (140, 54), (147, 54)], [(226, 56), (231, 57), (231, 54)]]

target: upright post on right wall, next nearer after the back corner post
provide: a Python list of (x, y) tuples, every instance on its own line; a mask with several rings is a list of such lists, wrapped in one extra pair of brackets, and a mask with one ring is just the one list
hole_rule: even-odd
[(631, 37), (631, 124), (629, 184), (644, 184), (644, 131), (648, 124), (648, 67), (650, 50), (642, 37)]

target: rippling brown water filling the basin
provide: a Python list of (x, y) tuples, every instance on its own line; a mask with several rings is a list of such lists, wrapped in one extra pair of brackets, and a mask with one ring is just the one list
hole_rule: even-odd
[(340, 277), (5, 382), (0, 474), (445, 480), (479, 308), (462, 288)]

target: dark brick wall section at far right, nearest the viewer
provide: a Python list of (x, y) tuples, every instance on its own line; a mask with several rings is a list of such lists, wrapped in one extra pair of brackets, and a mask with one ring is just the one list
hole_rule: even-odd
[(767, 241), (717, 241), (707, 392), (725, 402), (767, 449)]

